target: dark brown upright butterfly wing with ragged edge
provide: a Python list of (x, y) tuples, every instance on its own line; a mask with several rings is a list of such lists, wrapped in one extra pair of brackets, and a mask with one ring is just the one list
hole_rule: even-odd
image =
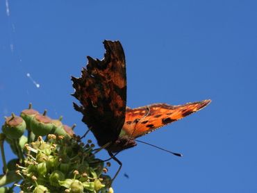
[(72, 77), (72, 94), (82, 106), (82, 121), (88, 125), (100, 146), (117, 140), (126, 112), (126, 63), (119, 41), (104, 41), (103, 60), (88, 56), (88, 65), (80, 78)]

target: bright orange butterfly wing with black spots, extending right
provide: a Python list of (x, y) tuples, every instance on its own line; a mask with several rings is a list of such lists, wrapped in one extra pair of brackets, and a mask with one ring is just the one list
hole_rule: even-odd
[(127, 108), (125, 123), (120, 135), (127, 135), (132, 138), (140, 137), (197, 112), (209, 103), (210, 100), (204, 100), (180, 106), (155, 103), (140, 108)]

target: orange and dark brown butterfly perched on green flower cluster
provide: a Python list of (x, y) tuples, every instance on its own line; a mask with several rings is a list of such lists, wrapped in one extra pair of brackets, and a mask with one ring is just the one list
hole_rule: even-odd
[(72, 95), (81, 103), (81, 106), (74, 103), (75, 110), (83, 114), (82, 121), (110, 156), (135, 146), (135, 138), (182, 119), (210, 103), (210, 100), (204, 100), (179, 106), (154, 103), (139, 108), (126, 107), (126, 61), (122, 44), (105, 40), (103, 45), (106, 49), (104, 58), (88, 56), (88, 65), (82, 69), (81, 77), (72, 76), (75, 90)]

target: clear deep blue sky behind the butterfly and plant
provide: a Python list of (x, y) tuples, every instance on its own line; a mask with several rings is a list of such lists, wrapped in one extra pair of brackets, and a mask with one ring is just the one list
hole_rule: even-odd
[(115, 192), (257, 192), (256, 8), (254, 0), (2, 0), (1, 123), (32, 102), (83, 134), (70, 76), (80, 76), (85, 56), (103, 58), (103, 40), (119, 40), (128, 106), (213, 102), (140, 138), (183, 158), (145, 144), (119, 153)]

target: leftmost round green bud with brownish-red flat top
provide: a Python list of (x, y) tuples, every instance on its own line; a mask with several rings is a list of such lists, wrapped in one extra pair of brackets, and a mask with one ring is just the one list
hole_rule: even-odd
[(22, 137), (26, 129), (26, 123), (22, 117), (15, 116), (7, 117), (2, 126), (2, 131), (10, 139), (19, 139)]

